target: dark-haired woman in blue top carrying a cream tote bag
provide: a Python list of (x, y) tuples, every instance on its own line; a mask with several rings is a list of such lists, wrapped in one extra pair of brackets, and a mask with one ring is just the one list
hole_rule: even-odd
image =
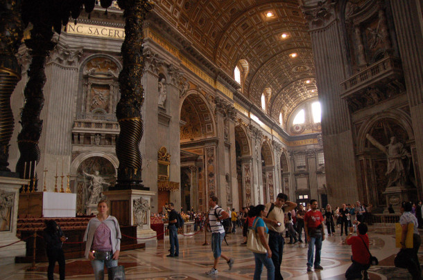
[(251, 207), (250, 212), (248, 212), (248, 216), (257, 216), (252, 223), (252, 230), (248, 233), (247, 243), (247, 248), (254, 254), (256, 263), (254, 280), (260, 280), (263, 265), (267, 268), (267, 279), (275, 279), (275, 266), (273, 266), (272, 251), (268, 245), (268, 227), (263, 221), (263, 217), (266, 217), (266, 215), (267, 211), (262, 204)]

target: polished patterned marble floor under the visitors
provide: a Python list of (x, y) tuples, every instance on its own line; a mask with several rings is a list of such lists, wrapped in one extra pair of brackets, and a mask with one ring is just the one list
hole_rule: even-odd
[[(125, 266), (126, 279), (252, 279), (254, 273), (254, 259), (252, 253), (245, 245), (241, 245), (241, 230), (236, 234), (228, 234), (227, 242), (223, 243), (223, 253), (235, 260), (232, 270), (221, 260), (218, 274), (207, 276), (205, 272), (212, 268), (213, 256), (210, 245), (203, 246), (204, 232), (191, 237), (179, 239), (180, 255), (168, 258), (169, 241), (148, 241), (146, 248), (121, 252), (119, 264)], [(395, 268), (394, 258), (398, 249), (395, 248), (394, 227), (371, 226), (370, 250), (379, 259), (379, 265), (370, 268), (369, 275), (372, 280), (383, 279), (411, 279), (407, 270)], [(297, 243), (286, 244), (282, 271), (284, 279), (345, 279), (343, 274), (350, 265), (351, 248), (343, 244), (345, 236), (328, 236), (322, 245), (322, 263), (324, 270), (307, 273), (307, 245)], [(210, 233), (207, 233), (210, 241)], [(286, 239), (288, 241), (288, 239)], [(420, 250), (422, 251), (422, 250)], [(420, 254), (423, 262), (423, 252)], [(35, 272), (26, 272), (28, 264), (15, 264), (0, 266), (0, 279), (47, 279), (47, 263), (38, 263)], [(56, 265), (55, 279), (58, 277)], [(69, 259), (66, 263), (67, 279), (94, 279), (89, 261), (85, 259)], [(107, 277), (105, 277), (107, 279)], [(266, 279), (264, 268), (262, 279)]]

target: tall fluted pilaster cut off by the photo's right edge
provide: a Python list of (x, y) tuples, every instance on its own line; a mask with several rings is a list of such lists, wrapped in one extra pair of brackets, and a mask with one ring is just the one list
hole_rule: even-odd
[[(423, 188), (423, 21), (419, 1), (390, 1), (415, 137), (416, 183)], [(420, 180), (419, 180), (420, 178)]]

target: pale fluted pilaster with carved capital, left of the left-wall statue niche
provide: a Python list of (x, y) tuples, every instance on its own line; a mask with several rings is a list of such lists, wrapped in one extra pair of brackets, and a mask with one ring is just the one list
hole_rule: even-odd
[[(43, 133), (40, 137), (39, 174), (44, 169), (49, 170), (46, 176), (46, 189), (53, 192), (55, 179), (53, 174), (56, 162), (59, 162), (59, 174), (63, 162), (63, 174), (70, 172), (71, 142), (70, 131), (73, 127), (74, 97), (78, 93), (78, 66), (83, 48), (71, 48), (58, 44), (51, 51), (46, 62), (46, 76), (49, 77), (44, 85), (44, 109), (40, 118), (44, 122)], [(63, 59), (66, 58), (66, 59)], [(60, 82), (58, 82), (60, 81)], [(39, 186), (44, 185), (44, 176), (40, 176)], [(42, 188), (38, 188), (42, 190)]]

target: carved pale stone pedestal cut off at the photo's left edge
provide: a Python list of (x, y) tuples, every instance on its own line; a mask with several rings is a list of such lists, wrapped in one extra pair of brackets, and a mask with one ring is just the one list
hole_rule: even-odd
[[(0, 247), (19, 241), (16, 237), (19, 188), (28, 184), (29, 180), (0, 176)], [(25, 252), (24, 241), (0, 248), (0, 265), (15, 263), (15, 256), (25, 256)]]

